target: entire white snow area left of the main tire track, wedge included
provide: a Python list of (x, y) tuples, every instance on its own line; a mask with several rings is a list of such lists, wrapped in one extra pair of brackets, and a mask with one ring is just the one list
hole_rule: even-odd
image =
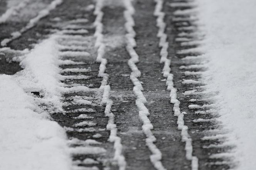
[(0, 75), (1, 170), (71, 169), (65, 130), (38, 107), (44, 103), (49, 112), (62, 108), (55, 41), (50, 37), (22, 57), (24, 70)]

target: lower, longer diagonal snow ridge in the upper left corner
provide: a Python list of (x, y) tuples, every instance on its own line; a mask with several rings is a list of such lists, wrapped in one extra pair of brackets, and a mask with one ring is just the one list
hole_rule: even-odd
[(33, 28), (41, 18), (44, 18), (45, 16), (49, 15), (50, 11), (55, 9), (57, 5), (60, 5), (61, 3), (62, 3), (62, 0), (52, 1), (45, 9), (41, 10), (36, 17), (30, 19), (29, 23), (27, 23), (27, 25), (23, 27), (20, 31), (11, 33), (12, 35), (11, 38), (3, 39), (1, 41), (1, 45), (6, 46), (7, 43), (10, 43), (11, 41), (19, 38), (22, 35), (22, 33), (26, 32), (30, 28)]

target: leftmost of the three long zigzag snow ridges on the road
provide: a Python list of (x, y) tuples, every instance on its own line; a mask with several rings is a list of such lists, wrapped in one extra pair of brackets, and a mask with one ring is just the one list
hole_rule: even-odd
[(108, 74), (104, 73), (106, 70), (106, 63), (107, 59), (103, 58), (104, 56), (104, 49), (105, 45), (103, 43), (103, 24), (102, 24), (102, 18), (104, 13), (102, 12), (102, 7), (103, 7), (103, 1), (104, 0), (97, 0), (95, 10), (94, 10), (94, 15), (96, 15), (96, 19), (94, 22), (94, 26), (96, 27), (94, 36), (96, 37), (96, 42), (95, 42), (95, 47), (98, 48), (98, 56), (96, 58), (97, 62), (100, 62), (99, 66), (99, 77), (103, 77), (103, 80), (101, 81), (101, 87), (100, 89), (103, 89), (103, 98), (102, 98), (102, 103), (106, 104), (105, 107), (105, 116), (108, 117), (108, 124), (107, 124), (107, 129), (110, 130), (110, 135), (109, 135), (109, 142), (114, 142), (114, 148), (115, 148), (115, 154), (113, 160), (118, 162), (119, 170), (125, 170), (126, 168), (126, 161), (125, 157), (122, 155), (122, 149), (123, 145), (121, 144), (121, 138), (116, 135), (117, 133), (117, 128), (115, 124), (115, 115), (111, 112), (111, 107), (113, 104), (113, 101), (109, 99), (109, 93), (110, 93), (110, 86), (107, 85), (108, 83)]

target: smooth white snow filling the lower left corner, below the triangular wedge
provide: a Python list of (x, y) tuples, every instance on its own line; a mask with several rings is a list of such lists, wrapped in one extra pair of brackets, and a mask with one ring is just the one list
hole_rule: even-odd
[(34, 98), (15, 77), (0, 75), (0, 169), (69, 170), (71, 158), (65, 131), (37, 113)]

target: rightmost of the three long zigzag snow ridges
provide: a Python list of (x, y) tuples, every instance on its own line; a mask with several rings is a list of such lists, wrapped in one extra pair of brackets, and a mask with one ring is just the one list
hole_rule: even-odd
[(160, 51), (160, 63), (164, 63), (163, 67), (163, 77), (167, 78), (166, 85), (167, 90), (170, 90), (170, 98), (171, 103), (174, 104), (173, 111), (174, 115), (178, 116), (177, 124), (178, 129), (181, 130), (182, 141), (185, 142), (185, 151), (186, 151), (186, 158), (187, 160), (191, 160), (191, 168), (192, 170), (198, 170), (198, 158), (192, 155), (193, 147), (192, 147), (192, 139), (189, 137), (188, 134), (188, 127), (184, 125), (184, 115), (185, 112), (180, 112), (180, 102), (177, 99), (177, 89), (173, 87), (173, 74), (170, 73), (170, 63), (171, 60), (167, 58), (168, 56), (168, 42), (166, 41), (167, 35), (165, 34), (165, 22), (163, 18), (165, 17), (165, 13), (161, 12), (163, 8), (163, 0), (155, 0), (156, 6), (154, 15), (157, 16), (157, 27), (159, 28), (157, 37), (160, 38), (159, 47), (161, 47)]

